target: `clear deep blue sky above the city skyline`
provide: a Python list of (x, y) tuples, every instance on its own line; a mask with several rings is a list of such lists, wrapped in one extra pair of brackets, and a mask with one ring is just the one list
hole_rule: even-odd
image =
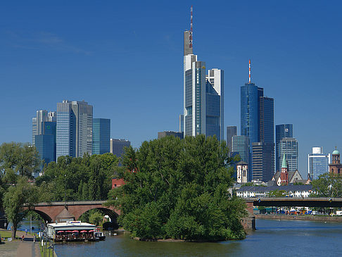
[(194, 54), (224, 70), (225, 126), (239, 132), (251, 58), (274, 123), (293, 123), (300, 173), (312, 146), (342, 151), (339, 1), (1, 2), (0, 143), (30, 142), (35, 111), (63, 99), (88, 101), (135, 147), (177, 130), (191, 5)]

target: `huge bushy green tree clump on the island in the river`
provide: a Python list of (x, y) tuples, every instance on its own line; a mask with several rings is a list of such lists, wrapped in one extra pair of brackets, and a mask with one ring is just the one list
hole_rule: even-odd
[(108, 204), (133, 237), (241, 239), (243, 200), (231, 197), (233, 168), (228, 149), (214, 137), (165, 137), (127, 149), (126, 184), (112, 189)]

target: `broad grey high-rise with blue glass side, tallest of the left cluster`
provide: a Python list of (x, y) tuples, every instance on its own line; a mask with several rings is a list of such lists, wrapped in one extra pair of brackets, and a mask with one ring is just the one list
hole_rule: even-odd
[(85, 101), (57, 103), (56, 158), (91, 154), (92, 130), (93, 106)]

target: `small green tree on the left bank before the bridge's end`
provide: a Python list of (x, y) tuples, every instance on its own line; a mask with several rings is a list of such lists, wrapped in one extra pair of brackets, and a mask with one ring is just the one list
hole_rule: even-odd
[(4, 206), (7, 218), (13, 223), (12, 239), (15, 239), (18, 224), (25, 217), (30, 207), (37, 203), (37, 188), (27, 182), (26, 177), (20, 177), (18, 184), (8, 189), (4, 194)]

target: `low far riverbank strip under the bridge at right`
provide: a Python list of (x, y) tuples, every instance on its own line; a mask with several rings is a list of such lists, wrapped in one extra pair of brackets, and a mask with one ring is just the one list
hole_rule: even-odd
[(312, 220), (320, 222), (342, 222), (342, 216), (322, 216), (322, 215), (272, 215), (255, 214), (257, 220)]

